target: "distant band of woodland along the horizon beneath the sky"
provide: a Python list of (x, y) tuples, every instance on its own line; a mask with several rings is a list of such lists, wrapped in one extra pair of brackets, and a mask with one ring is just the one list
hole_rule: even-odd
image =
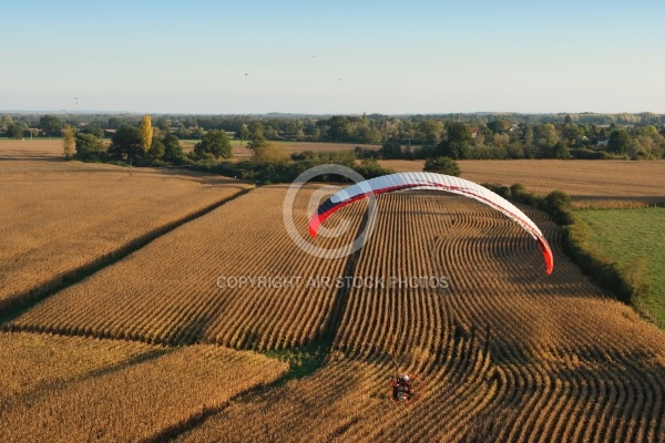
[[(132, 114), (108, 117), (75, 115), (68, 119), (51, 114), (39, 119), (21, 115), (12, 120), (6, 114), (0, 119), (0, 133), (18, 138), (25, 135), (27, 127), (37, 126), (41, 135), (57, 136), (65, 124), (70, 124), (80, 133), (101, 138), (114, 131), (139, 125), (140, 119)], [(665, 155), (665, 115), (653, 113), (158, 115), (155, 130), (161, 136), (173, 135), (200, 142), (209, 132), (219, 131), (234, 133), (236, 138), (252, 143), (267, 140), (381, 146), (378, 151), (358, 148), (359, 157), (430, 158), (446, 155), (452, 158), (648, 159)], [(173, 143), (173, 140), (167, 138), (166, 142)], [(156, 154), (158, 157), (158, 151)]]

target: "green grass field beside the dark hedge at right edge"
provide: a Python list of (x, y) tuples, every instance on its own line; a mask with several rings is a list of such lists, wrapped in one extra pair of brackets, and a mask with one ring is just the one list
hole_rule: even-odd
[(647, 261), (651, 293), (645, 307), (665, 324), (665, 208), (575, 212), (593, 230), (589, 238), (622, 266)]

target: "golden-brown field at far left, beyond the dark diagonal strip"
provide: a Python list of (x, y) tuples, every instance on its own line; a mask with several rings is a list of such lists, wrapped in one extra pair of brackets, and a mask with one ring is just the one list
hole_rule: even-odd
[(211, 186), (204, 174), (16, 158), (0, 159), (0, 311), (249, 188)]

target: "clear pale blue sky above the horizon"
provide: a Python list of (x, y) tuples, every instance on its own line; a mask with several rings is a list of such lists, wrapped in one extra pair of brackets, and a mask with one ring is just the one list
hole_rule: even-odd
[(1, 14), (0, 110), (665, 113), (663, 0), (37, 0)]

